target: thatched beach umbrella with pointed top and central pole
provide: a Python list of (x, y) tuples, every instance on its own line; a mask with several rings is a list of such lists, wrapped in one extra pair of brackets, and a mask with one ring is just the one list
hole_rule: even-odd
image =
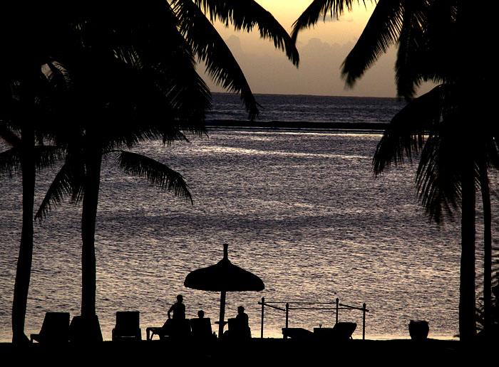
[(224, 257), (217, 264), (190, 272), (184, 281), (188, 288), (220, 292), (219, 338), (224, 331), (225, 293), (261, 291), (265, 287), (259, 277), (229, 261), (227, 248), (224, 244)]

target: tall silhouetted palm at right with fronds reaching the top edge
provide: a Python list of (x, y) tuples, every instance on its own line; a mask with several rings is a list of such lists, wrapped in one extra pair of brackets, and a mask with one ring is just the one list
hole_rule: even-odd
[[(319, 16), (327, 11), (339, 16), (345, 9), (351, 10), (352, 2), (313, 1), (295, 23), (293, 38), (296, 39), (300, 29), (317, 23)], [(476, 115), (476, 111), (480, 111), (476, 105), (484, 107), (485, 111), (490, 108), (474, 92), (483, 90), (485, 86), (485, 75), (478, 72), (483, 69), (479, 69), (474, 55), (465, 53), (463, 57), (460, 54), (461, 44), (473, 40), (472, 35), (480, 34), (483, 30), (483, 26), (475, 24), (476, 27), (472, 27), (462, 20), (465, 14), (470, 14), (467, 6), (470, 6), (469, 2), (458, 0), (380, 0), (359, 41), (342, 65), (346, 85), (353, 86), (389, 46), (396, 44), (399, 96), (411, 100), (422, 81), (445, 83), (445, 87), (428, 93), (421, 100), (414, 100), (408, 106), (414, 113), (416, 108), (426, 108), (426, 102), (431, 102), (430, 105), (437, 106), (432, 110), (435, 115), (426, 116), (425, 119), (419, 116), (421, 113), (418, 114), (421, 119), (418, 124), (414, 124), (413, 116), (406, 113), (394, 118), (397, 123), (405, 119), (403, 124), (408, 126), (402, 127), (391, 122), (376, 151), (374, 170), (379, 174), (386, 162), (401, 161), (403, 153), (411, 154), (412, 149), (422, 149), (423, 165), (419, 166), (417, 182), (420, 199), (430, 217), (438, 220), (442, 206), (452, 213), (458, 201), (461, 203), (461, 339), (473, 339), (475, 335), (475, 185), (477, 181), (481, 184), (484, 208), (487, 210), (490, 208), (490, 196), (486, 168), (497, 155), (495, 135), (490, 134), (490, 131), (480, 127), (473, 134), (467, 133), (470, 121), (476, 120), (482, 124)], [(472, 90), (475, 95), (470, 95)], [(427, 123), (432, 120), (438, 123), (431, 125), (430, 136), (423, 145), (423, 128), (428, 128)], [(416, 125), (417, 134), (413, 130)], [(490, 136), (491, 141), (488, 140)], [(443, 164), (443, 158), (447, 159), (446, 164)], [(456, 161), (459, 161), (458, 165), (449, 165)], [(490, 224), (487, 221), (490, 221), (490, 216), (485, 215), (485, 252), (490, 254)], [(488, 272), (486, 264), (490, 262), (489, 259), (490, 256), (485, 255), (485, 272)], [(485, 298), (490, 299), (490, 277), (485, 280), (484, 289)], [(485, 304), (490, 302), (486, 301)]]

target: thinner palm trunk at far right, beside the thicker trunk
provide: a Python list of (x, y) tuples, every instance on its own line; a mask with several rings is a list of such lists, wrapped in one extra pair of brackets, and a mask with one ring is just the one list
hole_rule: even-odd
[(480, 187), (483, 202), (483, 329), (492, 325), (492, 211), (487, 164), (480, 161)]

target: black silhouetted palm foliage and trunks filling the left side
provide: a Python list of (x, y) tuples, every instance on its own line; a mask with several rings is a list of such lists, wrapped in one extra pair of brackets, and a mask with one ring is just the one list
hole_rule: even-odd
[[(197, 6), (194, 6), (194, 4)], [(63, 196), (83, 202), (82, 314), (95, 313), (95, 232), (103, 154), (116, 154), (130, 174), (190, 199), (182, 176), (167, 166), (123, 150), (146, 139), (165, 144), (187, 140), (184, 132), (204, 134), (210, 91), (196, 73), (195, 55), (217, 83), (240, 92), (249, 113), (257, 102), (237, 61), (200, 9), (213, 20), (263, 38), (285, 50), (297, 65), (291, 38), (254, 1), (55, 1), (42, 5), (2, 4), (0, 35), (4, 53), (0, 77), (0, 134), (15, 142), (0, 158), (0, 169), (23, 174), (23, 232), (13, 305), (13, 340), (26, 341), (24, 317), (31, 272), (35, 169), (60, 151), (66, 164), (37, 213), (43, 218)], [(18, 18), (17, 15), (21, 14)], [(41, 15), (43, 14), (43, 16)], [(36, 36), (35, 36), (36, 35)], [(43, 42), (38, 40), (43, 37)], [(19, 97), (13, 98), (19, 90)], [(46, 102), (42, 109), (40, 101)], [(15, 117), (15, 118), (12, 118)], [(16, 136), (17, 129), (20, 137)], [(39, 154), (35, 139), (53, 139), (57, 149)], [(16, 140), (19, 140), (16, 141)], [(21, 147), (18, 149), (16, 144)], [(16, 151), (19, 150), (19, 151)], [(46, 149), (47, 150), (47, 149)], [(84, 323), (83, 323), (84, 324)]]

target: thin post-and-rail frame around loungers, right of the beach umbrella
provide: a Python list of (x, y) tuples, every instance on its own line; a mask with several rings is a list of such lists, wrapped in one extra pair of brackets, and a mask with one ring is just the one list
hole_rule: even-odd
[[(262, 301), (258, 302), (258, 304), (262, 305), (262, 321), (260, 326), (260, 337), (263, 339), (263, 326), (264, 326), (264, 309), (265, 307), (270, 307), (272, 309), (277, 309), (279, 311), (286, 312), (286, 329), (289, 324), (289, 310), (292, 309), (301, 309), (301, 310), (331, 310), (336, 311), (336, 324), (338, 323), (339, 310), (359, 310), (362, 311), (362, 339), (366, 339), (366, 312), (369, 312), (369, 309), (366, 309), (366, 304), (364, 303), (362, 307), (350, 306), (348, 304), (339, 303), (339, 298), (336, 298), (336, 302), (265, 302), (265, 298), (262, 297)], [(284, 304), (284, 308), (275, 306), (275, 304)], [(298, 307), (290, 307), (290, 304), (296, 304)], [(300, 304), (312, 304), (312, 305), (334, 305), (334, 307), (299, 307)], [(284, 335), (284, 339), (287, 339), (287, 336)]]

